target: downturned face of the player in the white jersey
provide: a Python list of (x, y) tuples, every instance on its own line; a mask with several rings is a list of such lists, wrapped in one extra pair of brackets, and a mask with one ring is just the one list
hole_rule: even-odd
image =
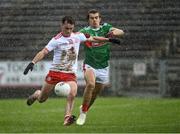
[(74, 25), (72, 25), (72, 24), (65, 22), (62, 25), (62, 33), (64, 36), (70, 36), (71, 33), (73, 32), (73, 30), (74, 30)]

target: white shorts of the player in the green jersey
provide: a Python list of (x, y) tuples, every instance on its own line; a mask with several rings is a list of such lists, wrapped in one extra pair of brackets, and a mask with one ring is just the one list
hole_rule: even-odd
[(85, 71), (86, 69), (93, 70), (97, 83), (101, 83), (101, 84), (109, 83), (109, 67), (102, 68), (102, 69), (95, 69), (91, 67), (90, 65), (84, 64), (83, 70)]

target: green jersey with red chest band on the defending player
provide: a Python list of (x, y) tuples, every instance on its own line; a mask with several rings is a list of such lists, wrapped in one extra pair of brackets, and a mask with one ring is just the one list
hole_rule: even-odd
[[(84, 27), (80, 32), (90, 34), (91, 36), (105, 37), (111, 30), (112, 25), (104, 23), (98, 29), (93, 29), (90, 26)], [(85, 60), (84, 64), (88, 64), (95, 69), (101, 69), (108, 66), (110, 58), (110, 43), (84, 43)]]

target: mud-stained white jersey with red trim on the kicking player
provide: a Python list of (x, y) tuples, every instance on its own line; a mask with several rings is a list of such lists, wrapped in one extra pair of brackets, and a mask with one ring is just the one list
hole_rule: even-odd
[(85, 35), (79, 32), (71, 33), (69, 37), (64, 37), (62, 33), (53, 37), (45, 47), (49, 52), (54, 50), (50, 70), (76, 74), (79, 47), (84, 41)]

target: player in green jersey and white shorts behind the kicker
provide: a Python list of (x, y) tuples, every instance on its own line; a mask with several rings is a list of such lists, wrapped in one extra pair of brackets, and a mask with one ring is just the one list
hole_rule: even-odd
[[(88, 27), (80, 30), (91, 36), (101, 37), (120, 37), (124, 34), (121, 29), (112, 27), (108, 23), (101, 23), (101, 14), (97, 10), (90, 10), (87, 14)], [(110, 40), (109, 40), (110, 41)], [(113, 42), (116, 43), (116, 42)], [(109, 83), (109, 65), (110, 59), (110, 43), (84, 43), (85, 59), (84, 59), (84, 78), (86, 87), (83, 94), (82, 105), (80, 106), (80, 114), (76, 121), (77, 125), (84, 125), (86, 121), (86, 113), (95, 102), (97, 95)]]

